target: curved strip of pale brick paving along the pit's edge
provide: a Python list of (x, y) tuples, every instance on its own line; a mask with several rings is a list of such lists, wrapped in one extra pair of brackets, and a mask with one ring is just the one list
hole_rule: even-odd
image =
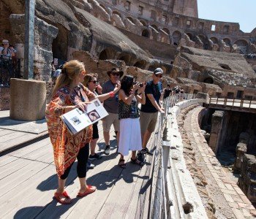
[(211, 150), (211, 147), (208, 147), (206, 139), (201, 134), (200, 126), (198, 126), (198, 115), (203, 107), (197, 107), (195, 110), (192, 110), (191, 115), (191, 127), (190, 136), (193, 137), (192, 140), (195, 141), (197, 149), (200, 152), (202, 161), (206, 164), (205, 168), (208, 170), (208, 174), (212, 175), (214, 178), (219, 191), (225, 197), (225, 201), (229, 206), (225, 208), (230, 209), (233, 212), (233, 215), (236, 215), (236, 218), (256, 218), (255, 207), (252, 206), (252, 203), (247, 199), (241, 189), (236, 185), (237, 182), (233, 180), (233, 177), (222, 168), (217, 160), (214, 152)]

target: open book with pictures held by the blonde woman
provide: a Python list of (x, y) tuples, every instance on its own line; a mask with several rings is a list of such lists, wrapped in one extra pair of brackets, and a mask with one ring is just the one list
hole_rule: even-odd
[(61, 115), (61, 119), (71, 134), (78, 134), (79, 131), (105, 118), (107, 115), (108, 112), (102, 106), (99, 99), (94, 99), (91, 101), (91, 104), (87, 105), (86, 112), (76, 108)]

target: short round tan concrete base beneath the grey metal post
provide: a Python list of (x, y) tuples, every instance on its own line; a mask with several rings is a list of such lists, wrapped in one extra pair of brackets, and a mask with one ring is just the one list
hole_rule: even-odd
[(34, 121), (45, 118), (45, 82), (12, 78), (10, 97), (11, 119)]

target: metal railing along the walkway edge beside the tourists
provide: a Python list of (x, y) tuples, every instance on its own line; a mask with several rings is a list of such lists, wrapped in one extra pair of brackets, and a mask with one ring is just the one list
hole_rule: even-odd
[(158, 131), (155, 133), (153, 147), (154, 158), (152, 165), (152, 184), (151, 184), (151, 201), (148, 218), (170, 218), (170, 203), (167, 198), (167, 179), (165, 169), (167, 164), (164, 164), (162, 141), (167, 121), (168, 109), (173, 107), (178, 101), (194, 99), (195, 94), (184, 93), (182, 98), (178, 94), (169, 96), (163, 101), (165, 113), (161, 113), (158, 119)]

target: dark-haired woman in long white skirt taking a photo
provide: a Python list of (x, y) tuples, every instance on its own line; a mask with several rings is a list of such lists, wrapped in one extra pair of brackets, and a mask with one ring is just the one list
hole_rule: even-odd
[[(146, 83), (134, 82), (134, 77), (126, 75), (121, 80), (121, 89), (118, 94), (118, 116), (120, 120), (120, 139), (118, 165), (126, 168), (124, 156), (132, 150), (131, 162), (143, 166), (136, 158), (136, 150), (142, 149), (138, 102), (145, 104)], [(138, 94), (139, 93), (139, 94)]]

